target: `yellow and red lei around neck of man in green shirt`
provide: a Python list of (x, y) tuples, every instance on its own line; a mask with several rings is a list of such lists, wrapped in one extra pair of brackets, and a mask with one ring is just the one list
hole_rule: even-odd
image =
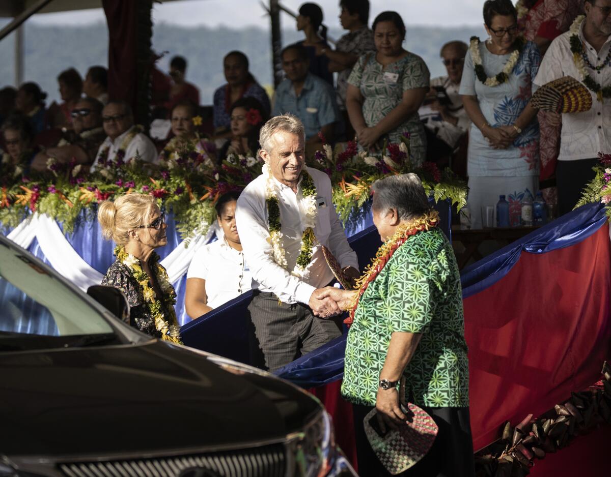
[(436, 210), (431, 210), (431, 212), (425, 213), (420, 217), (409, 220), (406, 223), (398, 226), (392, 237), (390, 237), (389, 240), (386, 240), (386, 242), (382, 243), (382, 246), (376, 252), (373, 262), (368, 265), (367, 268), (365, 268), (362, 276), (356, 281), (356, 287), (359, 291), (354, 293), (352, 303), (350, 303), (348, 306), (349, 316), (344, 320), (346, 325), (352, 325), (354, 321), (354, 314), (359, 306), (360, 297), (363, 296), (369, 284), (376, 279), (376, 277), (382, 271), (382, 268), (386, 266), (390, 260), (390, 257), (393, 256), (395, 251), (397, 251), (397, 249), (412, 235), (415, 235), (418, 232), (430, 230), (436, 227), (437, 224), (439, 224), (439, 213)]

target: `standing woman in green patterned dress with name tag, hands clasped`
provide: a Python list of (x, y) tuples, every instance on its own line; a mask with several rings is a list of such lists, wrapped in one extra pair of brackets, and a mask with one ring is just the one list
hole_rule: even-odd
[(429, 90), (430, 74), (419, 56), (401, 46), (405, 25), (397, 12), (382, 12), (373, 22), (375, 54), (365, 54), (348, 78), (346, 109), (359, 145), (381, 149), (384, 140), (411, 137), (412, 162), (426, 156), (426, 136), (418, 115)]

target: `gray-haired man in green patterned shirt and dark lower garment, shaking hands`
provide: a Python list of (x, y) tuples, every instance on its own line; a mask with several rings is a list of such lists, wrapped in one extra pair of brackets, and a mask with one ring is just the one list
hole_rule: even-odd
[(328, 287), (322, 295), (350, 314), (342, 396), (353, 403), (359, 473), (390, 475), (365, 436), (364, 418), (375, 406), (381, 432), (398, 429), (409, 401), (428, 412), (439, 433), (400, 475), (472, 476), (463, 296), (452, 246), (418, 176), (390, 176), (371, 188), (384, 243), (357, 291)]

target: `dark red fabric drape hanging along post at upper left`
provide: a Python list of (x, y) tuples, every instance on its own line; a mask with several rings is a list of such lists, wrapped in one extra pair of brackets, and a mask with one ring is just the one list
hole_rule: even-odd
[(137, 111), (137, 2), (102, 0), (108, 23), (108, 96), (122, 99)]

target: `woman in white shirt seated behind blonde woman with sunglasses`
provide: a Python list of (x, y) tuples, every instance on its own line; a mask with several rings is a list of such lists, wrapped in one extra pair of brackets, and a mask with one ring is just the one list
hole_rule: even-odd
[(251, 289), (251, 272), (235, 225), (239, 196), (239, 192), (227, 192), (219, 198), (216, 213), (224, 237), (200, 248), (189, 266), (185, 309), (193, 319)]

